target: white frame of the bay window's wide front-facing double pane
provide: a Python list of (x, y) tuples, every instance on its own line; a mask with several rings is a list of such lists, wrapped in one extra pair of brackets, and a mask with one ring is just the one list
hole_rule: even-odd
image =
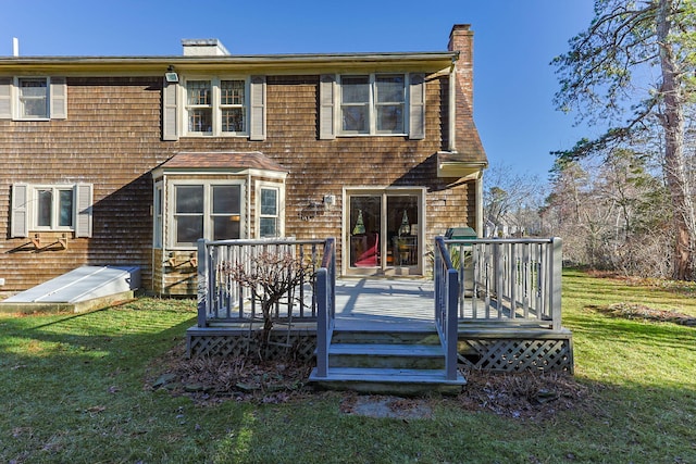
[(169, 206), (165, 206), (165, 211), (167, 211), (167, 229), (171, 230), (171, 234), (167, 234), (167, 242), (169, 248), (171, 249), (182, 249), (189, 250), (191, 248), (196, 248), (197, 243), (195, 242), (177, 242), (177, 229), (176, 229), (176, 187), (177, 186), (203, 186), (203, 237), (207, 240), (212, 240), (213, 234), (213, 217), (212, 214), (212, 187), (213, 186), (239, 186), (239, 238), (245, 238), (246, 236), (246, 227), (245, 227), (245, 198), (246, 198), (246, 183), (244, 180), (234, 180), (234, 179), (221, 179), (221, 180), (210, 180), (210, 179), (181, 179), (181, 180), (171, 180), (167, 186), (166, 199)]

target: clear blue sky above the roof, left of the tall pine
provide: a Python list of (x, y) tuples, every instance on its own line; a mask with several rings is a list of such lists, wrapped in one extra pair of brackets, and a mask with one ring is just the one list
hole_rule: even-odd
[[(474, 30), (474, 117), (492, 165), (546, 179), (552, 150), (587, 128), (555, 111), (551, 59), (585, 29), (592, 0), (3, 1), (0, 55), (172, 55), (183, 38), (233, 54), (442, 51)], [(29, 7), (30, 4), (30, 7)]]

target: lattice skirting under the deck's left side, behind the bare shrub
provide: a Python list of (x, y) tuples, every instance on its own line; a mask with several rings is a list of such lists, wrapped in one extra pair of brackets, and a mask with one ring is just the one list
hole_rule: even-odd
[[(188, 330), (186, 334), (186, 346), (189, 356), (239, 356), (246, 354), (257, 354), (259, 352), (259, 340), (256, 334), (249, 330), (220, 330), (220, 329), (197, 329)], [(265, 360), (277, 360), (293, 358), (300, 361), (308, 361), (314, 356), (316, 349), (316, 334), (307, 330), (272, 333), (263, 353)]]

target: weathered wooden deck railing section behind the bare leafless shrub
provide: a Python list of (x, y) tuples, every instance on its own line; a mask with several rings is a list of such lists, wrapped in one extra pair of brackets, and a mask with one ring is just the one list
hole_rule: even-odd
[(315, 321), (314, 280), (328, 240), (219, 240), (198, 241), (198, 327), (213, 323), (254, 321), (262, 317), (253, 288), (235, 280), (234, 266), (254, 265), (262, 253), (289, 254), (301, 266), (298, 284), (275, 305), (276, 321)]

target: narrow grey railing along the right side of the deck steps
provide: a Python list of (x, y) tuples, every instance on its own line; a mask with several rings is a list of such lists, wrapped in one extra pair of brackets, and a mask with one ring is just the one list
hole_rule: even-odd
[(457, 297), (460, 281), (442, 237), (435, 239), (434, 258), (435, 325), (445, 350), (445, 376), (453, 380), (457, 378)]

